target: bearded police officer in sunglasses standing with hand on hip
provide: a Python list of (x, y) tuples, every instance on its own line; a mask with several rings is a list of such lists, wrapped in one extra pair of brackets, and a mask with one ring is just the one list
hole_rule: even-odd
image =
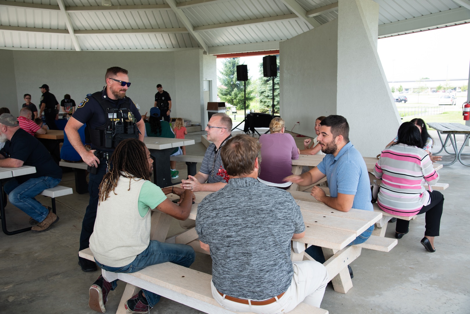
[[(93, 233), (96, 208), (98, 206), (99, 185), (106, 173), (107, 160), (110, 159), (117, 145), (115, 143), (109, 145), (110, 143), (106, 139), (106, 136), (109, 134), (106, 130), (109, 130), (113, 123), (121, 119), (108, 119), (109, 115), (107, 111), (110, 112), (122, 108), (129, 109), (135, 118), (134, 126), (137, 128), (134, 128), (135, 132), (133, 134), (126, 135), (129, 137), (135, 135), (134, 138), (138, 137), (141, 141), (144, 138), (145, 126), (141, 119), (141, 114), (135, 107), (133, 101), (125, 96), (127, 88), (131, 85), (127, 73), (127, 70), (118, 66), (109, 68), (105, 75), (106, 86), (102, 91), (86, 97), (78, 105), (77, 110), (65, 127), (65, 133), (71, 145), (90, 169), (88, 183), (90, 201), (86, 207), (85, 217), (83, 217), (82, 232), (80, 234), (80, 250), (84, 250), (89, 246), (89, 239), (90, 235)], [(125, 121), (125, 119), (122, 121)], [(90, 134), (92, 147), (90, 151), (86, 150), (78, 134), (78, 129), (85, 123)], [(112, 129), (114, 130), (115, 127)], [(79, 257), (78, 264), (84, 272), (93, 272), (96, 270), (96, 264), (85, 258)]]

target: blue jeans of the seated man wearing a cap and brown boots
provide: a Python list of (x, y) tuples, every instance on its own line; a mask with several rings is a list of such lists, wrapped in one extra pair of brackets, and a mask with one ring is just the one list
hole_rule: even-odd
[(12, 205), (23, 210), (36, 221), (42, 222), (49, 214), (49, 210), (34, 197), (42, 191), (58, 185), (61, 180), (53, 177), (39, 177), (19, 184), (16, 178), (11, 178), (5, 183), (3, 189), (8, 194), (8, 201)]

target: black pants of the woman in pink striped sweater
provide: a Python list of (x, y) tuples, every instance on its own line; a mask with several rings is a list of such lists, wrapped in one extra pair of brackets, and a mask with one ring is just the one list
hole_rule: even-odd
[[(431, 203), (419, 211), (419, 214), (426, 213), (426, 231), (424, 235), (429, 237), (439, 236), (440, 217), (442, 216), (442, 207), (444, 205), (444, 195), (438, 191), (427, 192), (431, 198)], [(398, 233), (405, 233), (408, 231), (409, 220), (397, 219), (397, 226), (395, 231)]]

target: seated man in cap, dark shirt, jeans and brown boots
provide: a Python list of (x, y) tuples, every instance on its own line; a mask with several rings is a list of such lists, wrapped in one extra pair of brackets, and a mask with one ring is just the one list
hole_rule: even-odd
[(49, 230), (59, 217), (35, 199), (42, 191), (59, 184), (62, 170), (36, 137), (20, 128), (11, 113), (0, 115), (0, 142), (6, 142), (0, 154), (0, 167), (36, 167), (36, 173), (11, 178), (4, 187), (8, 201), (31, 216), (34, 233)]

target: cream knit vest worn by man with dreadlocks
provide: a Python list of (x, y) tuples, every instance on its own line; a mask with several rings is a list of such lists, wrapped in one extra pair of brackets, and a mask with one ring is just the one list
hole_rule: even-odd
[[(129, 180), (131, 187), (127, 191)], [(126, 266), (149, 246), (151, 211), (141, 217), (138, 207), (139, 194), (145, 182), (143, 179), (119, 177), (114, 192), (111, 191), (110, 197), (98, 205), (90, 250), (101, 264)]]

